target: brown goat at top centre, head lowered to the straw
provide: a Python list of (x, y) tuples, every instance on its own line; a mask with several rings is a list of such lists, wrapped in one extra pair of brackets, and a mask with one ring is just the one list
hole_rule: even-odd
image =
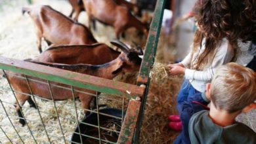
[(135, 27), (148, 35), (147, 27), (133, 16), (126, 7), (117, 5), (113, 0), (83, 0), (89, 18), (89, 27), (93, 19), (114, 26), (116, 37), (129, 27)]

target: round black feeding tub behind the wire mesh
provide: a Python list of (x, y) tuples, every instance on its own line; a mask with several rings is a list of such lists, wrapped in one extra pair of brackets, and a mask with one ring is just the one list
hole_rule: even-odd
[[(100, 109), (91, 113), (80, 122), (72, 135), (72, 144), (75, 143), (116, 143), (121, 130), (122, 111), (119, 109)], [(125, 113), (123, 112), (123, 117)], [(100, 128), (98, 128), (98, 124)], [(80, 135), (80, 133), (81, 135)], [(100, 134), (99, 134), (100, 133)], [(88, 135), (90, 135), (88, 137)]]

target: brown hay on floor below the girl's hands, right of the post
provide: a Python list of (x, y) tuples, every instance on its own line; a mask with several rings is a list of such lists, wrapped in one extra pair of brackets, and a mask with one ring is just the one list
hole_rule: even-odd
[[(176, 95), (182, 77), (167, 77), (150, 81), (141, 130), (141, 143), (172, 143), (177, 133), (167, 128), (167, 117), (176, 114)], [(149, 133), (152, 132), (152, 133)]]

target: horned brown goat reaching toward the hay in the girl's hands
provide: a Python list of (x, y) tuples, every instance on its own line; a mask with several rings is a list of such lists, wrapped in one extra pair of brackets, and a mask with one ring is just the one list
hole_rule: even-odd
[[(112, 62), (104, 63), (103, 65), (88, 65), (88, 64), (65, 65), (65, 64), (58, 64), (58, 63), (34, 62), (33, 60), (30, 60), (30, 62), (49, 65), (51, 67), (66, 69), (68, 71), (84, 73), (84, 74), (93, 75), (96, 77), (102, 77), (104, 79), (113, 79), (119, 73), (138, 71), (140, 68), (140, 63), (142, 62), (142, 59), (139, 58), (138, 51), (128, 49), (127, 47), (122, 46), (119, 43), (112, 42), (112, 44), (121, 48), (123, 52)], [(71, 88), (66, 84), (51, 82), (51, 91), (53, 94), (51, 95), (51, 92), (49, 91), (49, 86), (47, 85), (47, 81), (28, 77), (29, 79), (33, 79), (36, 81), (46, 82), (46, 84), (43, 84), (42, 82), (35, 82), (30, 80), (29, 81), (30, 85), (28, 86), (26, 79), (21, 79), (20, 77), (24, 77), (24, 75), (12, 73), (10, 71), (7, 72), (7, 79), (9, 79), (9, 82), (11, 83), (12, 88), (18, 91), (16, 92), (16, 98), (18, 99), (18, 103), (20, 105), (24, 105), (24, 103), (28, 100), (30, 105), (32, 107), (35, 107), (35, 104), (33, 103), (32, 98), (26, 95), (26, 94), (31, 94), (30, 90), (34, 95), (45, 98), (45, 99), (52, 99), (51, 96), (53, 96), (53, 100), (64, 100), (64, 99), (73, 98), (71, 90), (66, 90), (64, 88), (56, 87), (57, 85), (57, 86), (63, 86), (66, 88)], [(84, 94), (81, 91), (88, 92), (91, 94), (96, 94), (96, 92), (92, 90), (85, 90), (85, 89), (81, 90), (81, 88), (75, 88), (75, 97), (78, 97), (81, 100), (82, 108), (86, 112), (86, 109), (89, 109), (93, 96), (91, 96), (90, 94)], [(24, 126), (24, 124), (26, 123), (24, 118), (22, 117), (22, 113), (20, 112), (21, 107), (19, 107), (17, 103), (15, 104), (16, 104), (16, 111), (19, 116), (19, 122)]]

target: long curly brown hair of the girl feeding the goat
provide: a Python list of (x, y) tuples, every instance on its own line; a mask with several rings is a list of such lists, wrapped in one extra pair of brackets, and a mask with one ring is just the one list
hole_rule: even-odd
[(192, 54), (202, 44), (203, 37), (205, 50), (190, 68), (202, 69), (202, 65), (211, 62), (223, 38), (228, 40), (234, 51), (234, 61), (238, 52), (238, 39), (255, 39), (255, 6), (255, 0), (198, 0), (192, 11), (201, 29), (195, 33)]

